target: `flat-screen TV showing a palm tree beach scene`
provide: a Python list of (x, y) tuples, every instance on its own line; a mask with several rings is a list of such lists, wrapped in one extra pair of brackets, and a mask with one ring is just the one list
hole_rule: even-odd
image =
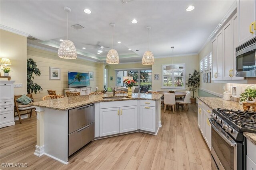
[(90, 86), (89, 73), (68, 72), (68, 88)]

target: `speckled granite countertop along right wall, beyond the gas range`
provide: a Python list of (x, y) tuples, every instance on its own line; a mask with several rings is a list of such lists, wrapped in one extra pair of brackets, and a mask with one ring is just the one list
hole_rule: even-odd
[(211, 98), (211, 97), (197, 97), (200, 99), (206, 106), (210, 107), (211, 109), (233, 109), (233, 110), (244, 110), (241, 104), (238, 102), (231, 101), (231, 100), (223, 100), (222, 98)]

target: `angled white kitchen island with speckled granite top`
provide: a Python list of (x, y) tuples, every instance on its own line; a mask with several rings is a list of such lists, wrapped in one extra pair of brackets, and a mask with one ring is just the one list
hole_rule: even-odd
[[(45, 154), (68, 164), (70, 148), (84, 142), (82, 136), (77, 134), (84, 133), (83, 131), (88, 129), (95, 129), (93, 139), (90, 141), (137, 131), (153, 135), (158, 133), (161, 127), (161, 94), (112, 96), (112, 94), (73, 96), (32, 103), (31, 105), (36, 106), (37, 111), (37, 144), (34, 154), (37, 156)], [(71, 113), (80, 115), (79, 111), (88, 107), (93, 108), (90, 109), (90, 115), (93, 112), (94, 122), (91, 121), (90, 126), (84, 126), (71, 133), (71, 129), (76, 127), (74, 122), (77, 121), (80, 127), (85, 122), (84, 117), (74, 118), (71, 117)], [(92, 120), (92, 116), (87, 119)], [(76, 140), (73, 139), (74, 133), (76, 133)]]

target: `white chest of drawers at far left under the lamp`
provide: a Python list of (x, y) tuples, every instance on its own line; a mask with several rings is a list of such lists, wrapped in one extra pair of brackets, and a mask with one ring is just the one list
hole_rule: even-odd
[(0, 128), (15, 125), (13, 114), (14, 82), (0, 80)]

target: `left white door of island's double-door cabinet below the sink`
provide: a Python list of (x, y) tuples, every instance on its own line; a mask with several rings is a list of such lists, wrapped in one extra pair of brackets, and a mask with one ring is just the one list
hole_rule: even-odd
[(120, 133), (120, 108), (100, 109), (100, 136)]

